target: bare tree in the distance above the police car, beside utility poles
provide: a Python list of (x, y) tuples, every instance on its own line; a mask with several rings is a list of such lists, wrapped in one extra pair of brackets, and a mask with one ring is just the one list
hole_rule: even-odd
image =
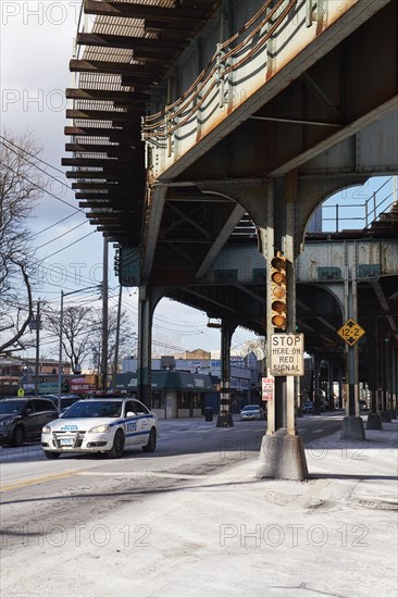
[[(60, 337), (60, 312), (49, 310), (46, 313), (46, 327)], [(92, 338), (98, 335), (96, 311), (84, 306), (69, 306), (62, 314), (62, 347), (69, 358), (72, 370), (78, 371), (92, 353)]]

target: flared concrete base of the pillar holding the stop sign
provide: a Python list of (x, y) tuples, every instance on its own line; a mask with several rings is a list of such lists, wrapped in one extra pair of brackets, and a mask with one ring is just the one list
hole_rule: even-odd
[(285, 427), (263, 436), (256, 477), (273, 479), (308, 479), (304, 448), (299, 436), (287, 434)]

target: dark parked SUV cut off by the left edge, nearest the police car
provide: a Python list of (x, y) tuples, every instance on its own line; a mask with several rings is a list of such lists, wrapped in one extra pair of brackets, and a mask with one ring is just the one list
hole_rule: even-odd
[(21, 447), (24, 440), (39, 438), (42, 426), (58, 419), (50, 399), (29, 397), (0, 401), (0, 444)]

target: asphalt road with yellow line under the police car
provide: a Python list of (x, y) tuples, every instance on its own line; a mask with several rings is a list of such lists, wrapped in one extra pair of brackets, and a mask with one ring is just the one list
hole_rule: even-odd
[[(178, 485), (197, 484), (210, 473), (257, 458), (265, 422), (236, 421), (217, 428), (203, 420), (160, 422), (154, 453), (140, 448), (122, 459), (102, 456), (62, 456), (48, 461), (39, 445), (3, 447), (1, 468), (1, 534), (7, 548), (38, 538), (49, 526), (85, 525), (126, 502), (141, 503)], [(298, 429), (316, 457), (323, 437), (341, 425), (338, 416), (306, 416)], [(26, 535), (27, 534), (27, 535)]]

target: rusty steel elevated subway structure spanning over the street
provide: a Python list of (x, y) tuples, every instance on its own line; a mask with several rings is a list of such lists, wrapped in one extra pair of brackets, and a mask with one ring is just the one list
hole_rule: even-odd
[[(66, 92), (74, 158), (64, 164), (90, 222), (119, 244), (129, 284), (140, 287), (140, 397), (150, 402), (151, 317), (162, 297), (222, 320), (226, 383), (236, 326), (272, 332), (274, 251), (295, 264), (325, 197), (398, 170), (397, 5), (86, 0), (84, 14), (96, 18), (90, 30), (80, 26), (71, 61), (79, 76)], [(395, 207), (389, 217), (390, 226), (359, 238), (388, 244), (397, 237)], [(207, 284), (234, 245), (258, 248), (258, 284), (241, 284), (229, 267)], [(324, 300), (318, 282), (303, 298), (298, 285), (296, 301), (294, 277), (295, 270), (287, 332), (306, 312), (321, 313)], [(358, 315), (362, 304), (372, 306), (370, 321), (382, 315), (377, 326), (388, 331), (396, 360), (395, 283), (378, 271), (376, 284), (359, 286)], [(346, 314), (337, 303), (331, 310), (341, 325)], [(307, 328), (307, 341), (318, 337), (308, 350), (336, 346), (335, 321), (307, 322), (314, 331)], [(285, 420), (276, 414), (276, 428)]]

